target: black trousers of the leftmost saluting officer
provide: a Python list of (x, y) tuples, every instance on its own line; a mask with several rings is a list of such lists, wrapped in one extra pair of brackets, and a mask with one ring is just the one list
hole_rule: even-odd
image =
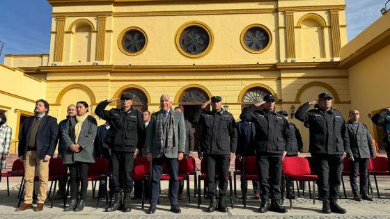
[[(114, 192), (120, 193), (123, 190), (125, 193), (131, 193), (133, 189), (132, 170), (134, 167), (134, 153), (112, 150), (111, 162)], [(125, 182), (122, 184), (123, 177), (125, 177)]]

